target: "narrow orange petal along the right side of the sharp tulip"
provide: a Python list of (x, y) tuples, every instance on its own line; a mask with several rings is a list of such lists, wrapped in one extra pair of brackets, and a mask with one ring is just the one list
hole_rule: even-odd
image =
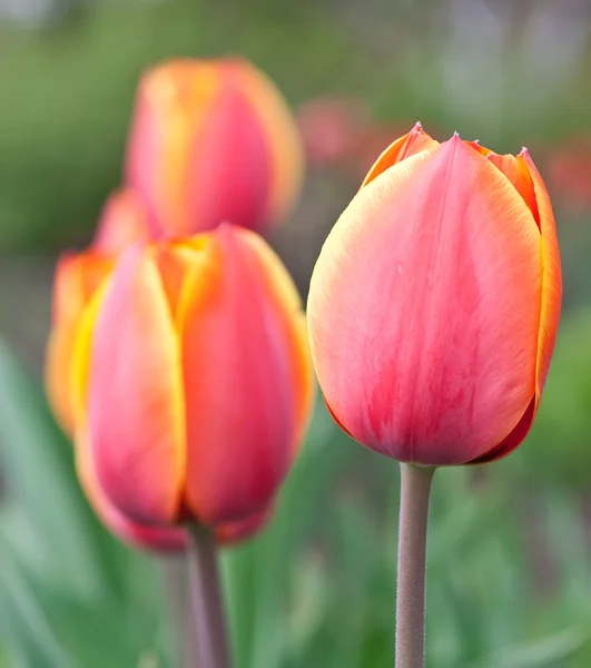
[(548, 190), (545, 189), (542, 177), (526, 149), (523, 150), (522, 157), (530, 170), (533, 181), (533, 189), (540, 213), (540, 232), (542, 235), (542, 305), (535, 371), (535, 393), (538, 400), (536, 403), (539, 403), (556, 340), (562, 301), (562, 274), (556, 226)]

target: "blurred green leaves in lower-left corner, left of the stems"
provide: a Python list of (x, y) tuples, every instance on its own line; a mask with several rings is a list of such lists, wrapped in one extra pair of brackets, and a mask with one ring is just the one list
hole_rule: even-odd
[(9, 666), (134, 666), (169, 644), (152, 560), (99, 524), (43, 396), (0, 345), (0, 637)]

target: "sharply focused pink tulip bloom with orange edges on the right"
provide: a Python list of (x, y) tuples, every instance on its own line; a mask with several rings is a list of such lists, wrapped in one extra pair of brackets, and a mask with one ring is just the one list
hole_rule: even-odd
[(308, 330), (333, 415), (402, 462), (500, 459), (538, 410), (561, 303), (552, 207), (529, 153), (416, 126), (323, 247)]

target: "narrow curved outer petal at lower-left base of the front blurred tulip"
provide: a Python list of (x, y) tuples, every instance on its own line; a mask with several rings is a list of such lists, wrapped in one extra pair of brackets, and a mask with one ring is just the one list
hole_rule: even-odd
[(117, 538), (136, 548), (161, 552), (181, 552), (188, 540), (184, 529), (149, 527), (131, 522), (112, 505), (100, 489), (89, 444), (88, 430), (81, 428), (76, 439), (76, 469), (90, 505), (102, 523)]

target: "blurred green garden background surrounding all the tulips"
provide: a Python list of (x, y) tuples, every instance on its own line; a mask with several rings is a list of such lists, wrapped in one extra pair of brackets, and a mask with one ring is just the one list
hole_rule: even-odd
[[(303, 292), (367, 159), (417, 119), (440, 139), (531, 149), (562, 245), (556, 353), (524, 445), (436, 474), (427, 665), (591, 666), (589, 3), (0, 0), (0, 667), (184, 665), (183, 563), (127, 549), (93, 519), (40, 379), (55, 258), (89, 240), (119, 184), (140, 71), (228, 52), (294, 109), (341, 100), (328, 129), (351, 100), (364, 109), (346, 159), (311, 166), (276, 235)], [(319, 403), (276, 519), (225, 554), (237, 668), (392, 664), (397, 487), (395, 463)]]

